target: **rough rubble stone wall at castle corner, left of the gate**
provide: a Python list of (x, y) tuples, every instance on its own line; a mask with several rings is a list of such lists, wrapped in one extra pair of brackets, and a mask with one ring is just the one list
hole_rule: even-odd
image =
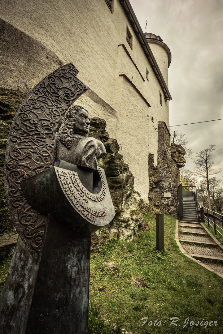
[[(164, 213), (177, 216), (177, 205), (173, 187), (180, 184), (179, 168), (184, 166), (185, 150), (181, 145), (171, 144), (170, 132), (164, 122), (158, 124), (158, 159), (153, 165), (153, 154), (149, 155), (149, 200)], [(171, 197), (164, 197), (170, 193)]]

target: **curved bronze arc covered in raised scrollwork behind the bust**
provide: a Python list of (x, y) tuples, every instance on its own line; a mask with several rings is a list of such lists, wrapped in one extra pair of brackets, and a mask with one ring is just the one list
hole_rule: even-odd
[(87, 88), (78, 70), (67, 64), (46, 76), (26, 97), (15, 115), (5, 155), (5, 191), (15, 227), (38, 259), (46, 217), (26, 202), (20, 181), (53, 165), (55, 133), (66, 110)]

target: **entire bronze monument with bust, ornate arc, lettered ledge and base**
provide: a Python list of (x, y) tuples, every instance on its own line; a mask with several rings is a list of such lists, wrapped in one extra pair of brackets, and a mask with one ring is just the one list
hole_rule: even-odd
[(87, 333), (91, 233), (115, 210), (98, 167), (105, 147), (88, 137), (88, 111), (68, 110), (87, 90), (77, 73), (67, 64), (45, 77), (10, 129), (5, 190), (19, 237), (1, 295), (0, 332)]

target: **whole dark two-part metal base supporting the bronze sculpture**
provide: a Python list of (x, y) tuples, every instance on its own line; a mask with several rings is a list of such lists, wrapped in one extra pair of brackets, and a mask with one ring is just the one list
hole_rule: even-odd
[(1, 296), (0, 332), (86, 334), (90, 246), (90, 233), (68, 230), (51, 215), (38, 263), (19, 238)]

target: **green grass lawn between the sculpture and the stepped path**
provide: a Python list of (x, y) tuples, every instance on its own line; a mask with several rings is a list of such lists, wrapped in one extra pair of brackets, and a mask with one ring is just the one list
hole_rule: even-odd
[[(222, 334), (223, 279), (181, 254), (173, 217), (164, 215), (165, 253), (156, 252), (155, 220), (145, 219), (151, 231), (131, 242), (107, 241), (91, 254), (89, 333)], [(1, 264), (1, 284), (8, 263)]]

